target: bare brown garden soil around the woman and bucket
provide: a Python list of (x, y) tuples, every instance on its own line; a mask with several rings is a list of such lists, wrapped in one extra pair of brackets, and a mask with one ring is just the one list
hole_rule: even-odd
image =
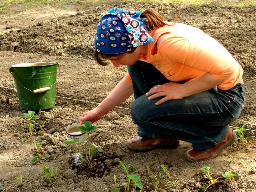
[[(75, 5), (74, 5), (75, 6)], [(67, 10), (32, 9), (22, 13), (5, 15), (0, 19), (0, 183), (4, 191), (74, 191), (104, 192), (125, 181), (125, 174), (118, 160), (130, 167), (137, 167), (132, 174), (139, 174), (143, 183), (142, 191), (153, 191), (154, 183), (150, 176), (158, 175), (161, 164), (168, 168), (175, 183), (165, 189), (166, 181), (160, 181), (157, 191), (198, 191), (207, 185), (206, 175), (200, 171), (203, 166), (212, 167), (212, 176), (217, 178), (226, 171), (238, 172), (241, 177), (235, 185), (219, 184), (208, 191), (256, 191), (256, 145), (255, 142), (235, 144), (225, 149), (217, 158), (189, 163), (185, 152), (191, 147), (181, 142), (178, 149), (154, 149), (148, 152), (132, 152), (125, 142), (137, 136), (136, 125), (130, 117), (133, 98), (115, 108), (94, 125), (99, 129), (91, 134), (91, 140), (100, 145), (105, 153), (95, 157), (96, 169), (90, 173), (83, 166), (72, 165), (72, 152), (62, 143), (67, 139), (65, 126), (77, 121), (87, 110), (96, 107), (126, 73), (126, 68), (98, 66), (92, 57), (93, 35), (97, 20), (103, 12), (113, 6), (140, 10), (153, 8), (167, 20), (174, 15), (179, 21), (201, 28), (223, 44), (244, 68), (244, 82), (247, 88), (246, 106), (242, 115), (232, 126), (246, 124), (247, 129), (256, 131), (256, 8), (234, 8), (219, 3), (202, 6), (185, 6), (172, 3), (145, 3), (124, 1), (122, 3), (90, 4), (83, 7), (68, 7)], [(73, 10), (74, 9), (74, 10)], [(77, 12), (76, 10), (80, 10)], [(71, 15), (70, 15), (71, 14)], [(29, 19), (28, 19), (29, 18)], [(15, 63), (32, 61), (57, 61), (61, 76), (57, 83), (56, 105), (54, 108), (38, 111), (40, 120), (35, 121), (37, 134), (28, 136), (26, 120), (21, 114), (13, 78), (8, 72)], [(9, 87), (9, 88), (4, 88)], [(70, 100), (61, 97), (77, 100)], [(84, 100), (84, 101), (78, 101)], [(90, 101), (90, 102), (87, 102)], [(255, 132), (246, 131), (246, 136)], [(33, 140), (42, 144), (42, 153), (51, 155), (33, 165), (29, 159), (36, 153)], [(81, 144), (86, 153), (86, 144)], [(41, 180), (42, 162), (47, 167), (59, 167), (58, 177), (52, 184)], [(18, 187), (15, 177), (20, 172), (23, 186)]]

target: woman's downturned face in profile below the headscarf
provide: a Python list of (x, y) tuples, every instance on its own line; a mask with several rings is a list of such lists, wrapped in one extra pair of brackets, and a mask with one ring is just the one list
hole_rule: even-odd
[(108, 58), (115, 67), (118, 67), (119, 65), (133, 65), (137, 60), (140, 58), (141, 54), (141, 48), (137, 47), (134, 52), (126, 52), (122, 55), (118, 56), (112, 56)]

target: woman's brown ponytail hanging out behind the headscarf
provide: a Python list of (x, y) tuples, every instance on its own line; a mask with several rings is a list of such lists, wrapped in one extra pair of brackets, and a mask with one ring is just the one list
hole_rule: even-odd
[(173, 26), (178, 21), (178, 16), (176, 15), (175, 21), (172, 24), (168, 24), (164, 21), (164, 17), (162, 15), (152, 9), (146, 9), (141, 13), (140, 17), (148, 19), (148, 28), (150, 30), (153, 30), (154, 26), (156, 28), (164, 27), (165, 25)]

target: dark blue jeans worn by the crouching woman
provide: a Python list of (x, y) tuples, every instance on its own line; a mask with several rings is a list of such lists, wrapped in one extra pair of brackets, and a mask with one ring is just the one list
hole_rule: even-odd
[(242, 83), (229, 90), (210, 89), (156, 106), (156, 101), (162, 97), (148, 100), (146, 92), (170, 81), (150, 63), (137, 61), (127, 68), (135, 99), (131, 116), (138, 125), (140, 137), (172, 137), (192, 143), (197, 151), (213, 148), (227, 134), (228, 124), (235, 121), (244, 108)]

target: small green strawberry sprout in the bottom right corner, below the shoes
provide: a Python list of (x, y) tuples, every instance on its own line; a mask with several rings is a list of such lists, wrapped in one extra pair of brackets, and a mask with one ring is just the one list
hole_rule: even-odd
[(212, 176), (210, 175), (210, 170), (211, 169), (212, 168), (208, 167), (208, 166), (204, 166), (202, 168), (202, 170), (207, 173), (210, 184), (206, 188), (205, 187), (199, 188), (199, 191), (201, 191), (201, 192), (206, 191), (209, 187), (211, 187), (212, 185), (215, 185), (217, 183), (230, 182), (230, 181), (233, 181), (233, 183), (234, 183), (235, 180), (234, 180), (233, 177), (238, 176), (238, 173), (236, 173), (236, 172), (225, 172), (224, 174), (222, 174), (222, 177), (218, 177), (217, 179), (213, 180)]

